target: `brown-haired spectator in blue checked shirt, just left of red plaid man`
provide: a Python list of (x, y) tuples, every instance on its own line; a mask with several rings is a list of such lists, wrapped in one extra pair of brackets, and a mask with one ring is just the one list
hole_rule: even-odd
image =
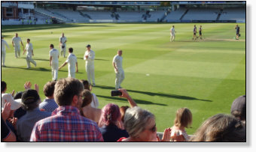
[(54, 85), (56, 81), (47, 82), (44, 85), (44, 95), (47, 97), (42, 103), (39, 104), (39, 109), (45, 112), (53, 112), (58, 108), (57, 103), (54, 100)]

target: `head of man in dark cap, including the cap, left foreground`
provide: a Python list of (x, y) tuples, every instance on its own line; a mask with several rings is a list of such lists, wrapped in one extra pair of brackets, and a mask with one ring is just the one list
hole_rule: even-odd
[(38, 108), (38, 105), (40, 103), (38, 91), (32, 89), (24, 91), (21, 97), (21, 101), (21, 106), (24, 110), (33, 110), (35, 108)]

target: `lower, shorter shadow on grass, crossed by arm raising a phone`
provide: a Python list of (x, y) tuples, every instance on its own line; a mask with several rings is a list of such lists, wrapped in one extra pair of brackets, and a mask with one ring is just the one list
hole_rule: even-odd
[[(110, 94), (109, 94), (110, 95)], [(108, 99), (108, 100), (112, 100), (112, 101), (122, 101), (123, 103), (128, 103), (128, 101), (124, 98), (120, 98), (120, 97), (108, 97), (108, 96), (102, 96), (102, 95), (98, 95), (97, 94), (97, 97), (102, 97), (102, 98), (105, 98), (105, 99)], [(145, 104), (145, 105), (158, 105), (158, 106), (167, 106), (166, 104), (162, 104), (162, 103), (152, 103), (150, 101), (146, 101), (146, 100), (137, 100), (137, 99), (133, 99), (136, 103), (139, 103), (139, 104)]]

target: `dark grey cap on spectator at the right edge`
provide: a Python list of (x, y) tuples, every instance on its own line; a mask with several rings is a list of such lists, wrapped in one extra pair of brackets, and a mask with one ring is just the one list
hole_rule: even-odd
[(233, 100), (231, 110), (230, 112), (232, 113), (233, 111), (238, 111), (241, 113), (246, 112), (246, 97), (245, 96), (240, 96)]

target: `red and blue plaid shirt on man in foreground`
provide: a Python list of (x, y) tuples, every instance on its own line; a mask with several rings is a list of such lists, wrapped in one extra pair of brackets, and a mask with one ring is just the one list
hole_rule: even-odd
[(103, 142), (96, 122), (74, 106), (59, 106), (53, 114), (35, 124), (30, 142)]

